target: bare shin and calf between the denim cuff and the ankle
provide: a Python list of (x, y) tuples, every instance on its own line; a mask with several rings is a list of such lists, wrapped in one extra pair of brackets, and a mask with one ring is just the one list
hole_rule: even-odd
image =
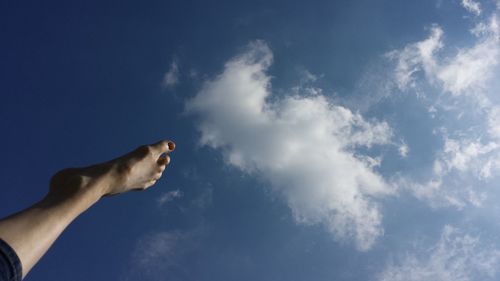
[(65, 198), (49, 193), (32, 207), (0, 220), (0, 238), (16, 251), (23, 278), (64, 229), (99, 198), (92, 189)]

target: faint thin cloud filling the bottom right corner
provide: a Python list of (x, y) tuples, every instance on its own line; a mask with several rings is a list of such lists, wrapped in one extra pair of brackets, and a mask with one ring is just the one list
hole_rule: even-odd
[(483, 245), (479, 237), (445, 226), (437, 243), (389, 263), (379, 281), (496, 280), (500, 251)]

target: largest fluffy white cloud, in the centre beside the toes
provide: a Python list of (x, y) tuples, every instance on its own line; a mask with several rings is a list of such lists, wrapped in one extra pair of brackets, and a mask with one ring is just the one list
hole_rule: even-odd
[(253, 42), (187, 102), (187, 111), (201, 117), (200, 143), (266, 179), (297, 222), (322, 224), (337, 239), (369, 249), (383, 233), (376, 199), (393, 190), (375, 171), (380, 159), (358, 148), (389, 144), (390, 127), (321, 91), (273, 96), (266, 74), (272, 59), (265, 43)]

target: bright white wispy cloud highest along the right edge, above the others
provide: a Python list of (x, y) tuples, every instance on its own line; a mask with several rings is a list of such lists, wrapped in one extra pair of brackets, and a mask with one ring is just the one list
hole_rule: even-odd
[(453, 95), (474, 94), (484, 90), (499, 63), (500, 39), (496, 16), (472, 30), (480, 36), (470, 48), (460, 48), (450, 57), (438, 58), (443, 49), (444, 32), (434, 25), (427, 39), (409, 44), (388, 56), (397, 60), (395, 80), (400, 89), (414, 87), (417, 74), (423, 71), (430, 83), (438, 84)]

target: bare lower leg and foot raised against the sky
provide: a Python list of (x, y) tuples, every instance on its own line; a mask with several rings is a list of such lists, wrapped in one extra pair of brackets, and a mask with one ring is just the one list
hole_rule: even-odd
[(174, 149), (173, 142), (160, 141), (101, 164), (61, 170), (41, 201), (0, 220), (0, 238), (17, 253), (23, 278), (64, 229), (102, 197), (155, 184)]

